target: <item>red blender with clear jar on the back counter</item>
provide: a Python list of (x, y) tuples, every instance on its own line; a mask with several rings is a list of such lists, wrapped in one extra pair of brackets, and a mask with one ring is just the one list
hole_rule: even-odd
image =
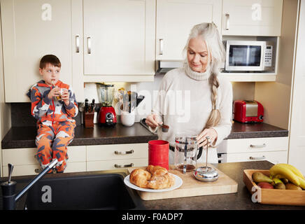
[(117, 123), (117, 116), (112, 106), (115, 93), (114, 85), (111, 83), (97, 83), (97, 93), (99, 102), (101, 102), (101, 109), (97, 118), (99, 125), (115, 125)]

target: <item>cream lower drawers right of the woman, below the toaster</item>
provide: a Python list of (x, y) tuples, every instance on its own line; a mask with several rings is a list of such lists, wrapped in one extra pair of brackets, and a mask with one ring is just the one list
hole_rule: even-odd
[(218, 146), (218, 153), (226, 153), (227, 162), (287, 163), (288, 137), (227, 139)]

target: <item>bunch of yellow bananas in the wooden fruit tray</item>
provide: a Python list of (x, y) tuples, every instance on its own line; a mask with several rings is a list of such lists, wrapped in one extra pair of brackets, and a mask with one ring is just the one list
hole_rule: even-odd
[(305, 189), (305, 178), (299, 169), (289, 164), (279, 163), (269, 169), (271, 179), (288, 179), (296, 186)]

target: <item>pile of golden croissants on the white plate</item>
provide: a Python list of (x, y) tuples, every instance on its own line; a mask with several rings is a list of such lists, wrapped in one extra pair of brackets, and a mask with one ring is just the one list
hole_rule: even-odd
[(140, 188), (164, 189), (174, 185), (175, 179), (167, 169), (149, 165), (144, 169), (134, 169), (129, 177), (130, 183)]

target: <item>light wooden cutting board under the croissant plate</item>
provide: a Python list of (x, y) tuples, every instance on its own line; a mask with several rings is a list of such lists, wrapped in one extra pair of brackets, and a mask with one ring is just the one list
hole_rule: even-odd
[[(208, 167), (213, 167), (208, 165)], [(145, 169), (146, 167), (130, 167), (128, 168), (129, 173), (136, 168)], [(215, 167), (213, 167), (215, 168)], [(183, 180), (182, 186), (175, 190), (151, 193), (144, 192), (141, 190), (136, 190), (142, 200), (160, 200), (166, 198), (176, 198), (176, 197), (193, 197), (200, 195), (219, 195), (219, 194), (229, 194), (236, 193), (238, 184), (236, 181), (232, 180), (226, 174), (222, 173), (219, 169), (216, 169), (218, 172), (218, 180), (213, 182), (202, 182), (194, 178), (193, 172), (187, 172), (183, 174), (182, 172), (169, 169), (169, 173), (180, 176)]]

